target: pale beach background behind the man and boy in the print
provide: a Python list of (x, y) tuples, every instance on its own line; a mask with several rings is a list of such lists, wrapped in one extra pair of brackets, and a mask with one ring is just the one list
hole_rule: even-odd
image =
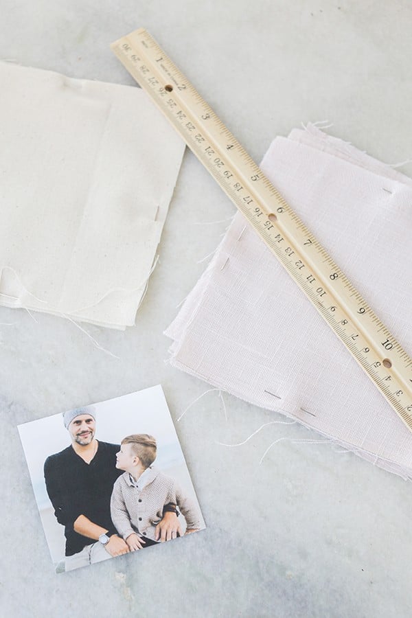
[[(96, 411), (95, 437), (102, 442), (120, 444), (126, 435), (132, 433), (153, 435), (157, 440), (157, 458), (153, 467), (176, 479), (187, 495), (198, 504), (161, 386), (92, 404), (90, 407)], [(70, 436), (63, 424), (62, 413), (19, 425), (18, 428), (47, 545), (54, 566), (58, 567), (65, 558), (65, 529), (56, 520), (54, 508), (47, 496), (43, 466), (49, 455), (71, 444)], [(184, 530), (183, 516), (179, 516), (179, 523)]]

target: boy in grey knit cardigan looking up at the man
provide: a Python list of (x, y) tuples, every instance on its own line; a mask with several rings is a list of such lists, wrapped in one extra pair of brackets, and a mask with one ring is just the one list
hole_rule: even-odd
[[(173, 503), (185, 516), (185, 534), (201, 528), (201, 514), (171, 477), (152, 468), (156, 439), (147, 433), (128, 435), (116, 455), (116, 468), (124, 474), (113, 485), (111, 518), (131, 551), (157, 543), (156, 526), (163, 506)], [(174, 535), (173, 535), (174, 536)]]

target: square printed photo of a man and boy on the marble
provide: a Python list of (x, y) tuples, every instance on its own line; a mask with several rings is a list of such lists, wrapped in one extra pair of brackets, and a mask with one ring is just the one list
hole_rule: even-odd
[(161, 386), (18, 428), (56, 573), (205, 528)]

